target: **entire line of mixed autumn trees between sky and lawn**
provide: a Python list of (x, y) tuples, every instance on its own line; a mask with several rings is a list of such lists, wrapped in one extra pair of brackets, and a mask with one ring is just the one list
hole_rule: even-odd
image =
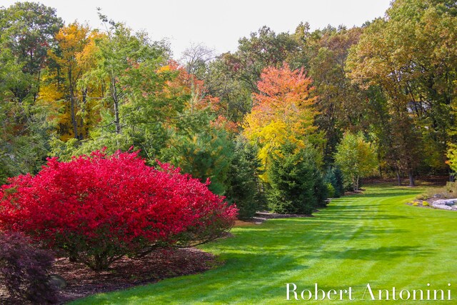
[[(165, 41), (55, 9), (0, 9), (0, 180), (106, 147), (179, 166), (251, 216), (310, 213), (363, 176), (456, 169), (457, 5), (396, 0), (360, 27), (267, 26), (180, 61)], [(301, 204), (296, 204), (301, 202)], [(303, 204), (306, 202), (306, 204)]]

